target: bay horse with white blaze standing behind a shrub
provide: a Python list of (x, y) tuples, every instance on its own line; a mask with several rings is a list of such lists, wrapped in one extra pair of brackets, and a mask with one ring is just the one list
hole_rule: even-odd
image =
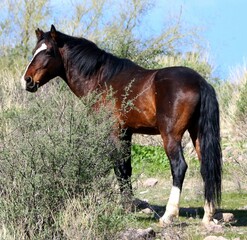
[[(212, 223), (215, 207), (221, 201), (222, 178), (219, 106), (213, 87), (190, 68), (145, 69), (129, 59), (100, 49), (85, 38), (61, 33), (53, 25), (48, 32), (40, 29), (35, 32), (37, 44), (21, 78), (23, 88), (36, 92), (59, 76), (79, 98), (92, 91), (113, 89), (114, 112), (118, 113), (118, 131), (115, 129), (113, 135), (115, 139), (127, 142), (127, 158), (116, 161), (114, 167), (123, 195), (133, 195), (132, 135), (160, 134), (173, 179), (166, 211), (160, 218), (164, 225), (179, 214), (180, 194), (187, 170), (181, 140), (188, 130), (204, 182), (202, 222)], [(132, 101), (134, 107), (122, 114), (124, 101)]]

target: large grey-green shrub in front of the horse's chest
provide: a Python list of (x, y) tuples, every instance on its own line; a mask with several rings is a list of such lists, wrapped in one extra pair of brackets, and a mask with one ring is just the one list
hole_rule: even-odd
[[(95, 207), (118, 198), (110, 174), (114, 119), (109, 109), (92, 110), (99, 97), (79, 100), (63, 84), (49, 83), (18, 108), (0, 112), (0, 223), (18, 239), (65, 238), (58, 219), (69, 199), (96, 188), (102, 199)], [(102, 231), (111, 215), (103, 216)]]

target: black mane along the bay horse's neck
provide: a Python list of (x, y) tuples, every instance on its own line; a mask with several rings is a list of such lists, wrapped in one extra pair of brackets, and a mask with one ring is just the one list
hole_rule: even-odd
[(122, 70), (136, 66), (129, 59), (119, 58), (98, 48), (98, 46), (85, 39), (76, 38), (59, 33), (59, 38), (68, 47), (68, 58), (72, 66), (77, 68), (84, 77), (90, 78), (103, 67), (103, 79), (109, 80)]

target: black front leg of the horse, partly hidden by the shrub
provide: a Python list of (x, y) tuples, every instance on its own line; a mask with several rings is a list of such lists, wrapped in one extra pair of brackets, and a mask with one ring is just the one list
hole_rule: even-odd
[(132, 132), (124, 130), (119, 138), (120, 148), (117, 147), (117, 154), (114, 156), (114, 171), (118, 179), (122, 201), (125, 208), (129, 208), (133, 200), (131, 184), (131, 139)]

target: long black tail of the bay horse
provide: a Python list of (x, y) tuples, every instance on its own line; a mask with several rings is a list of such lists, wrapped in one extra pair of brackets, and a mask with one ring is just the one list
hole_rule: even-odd
[(213, 87), (201, 83), (199, 119), (201, 174), (205, 184), (205, 199), (220, 205), (222, 154), (220, 147), (219, 104)]

